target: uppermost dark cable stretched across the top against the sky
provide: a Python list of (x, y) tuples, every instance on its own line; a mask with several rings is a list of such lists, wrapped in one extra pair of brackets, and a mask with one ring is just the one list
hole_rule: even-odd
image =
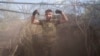
[[(0, 3), (3, 4), (31, 4), (31, 5), (68, 5), (68, 4), (59, 4), (59, 3), (45, 3), (45, 2), (40, 2), (40, 3), (27, 3), (27, 2), (7, 2), (7, 1), (0, 1)], [(100, 5), (98, 4), (91, 4), (91, 3), (82, 3), (82, 2), (78, 2), (76, 3), (78, 6), (89, 6), (89, 5)], [(69, 5), (70, 6), (70, 5)], [(71, 5), (72, 6), (72, 5)]]

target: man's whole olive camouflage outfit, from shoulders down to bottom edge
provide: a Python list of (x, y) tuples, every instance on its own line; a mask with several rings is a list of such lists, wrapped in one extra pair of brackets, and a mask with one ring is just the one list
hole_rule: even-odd
[(44, 39), (44, 49), (46, 50), (46, 56), (52, 56), (52, 48), (57, 38), (56, 25), (59, 23), (57, 20), (41, 20), (40, 25), (42, 27), (42, 37)]

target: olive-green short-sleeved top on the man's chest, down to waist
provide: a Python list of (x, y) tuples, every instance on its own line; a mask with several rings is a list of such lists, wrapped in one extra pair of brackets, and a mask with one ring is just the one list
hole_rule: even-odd
[(59, 20), (51, 19), (50, 21), (40, 20), (40, 25), (42, 26), (42, 30), (44, 35), (54, 35), (56, 33), (56, 26), (60, 23)]

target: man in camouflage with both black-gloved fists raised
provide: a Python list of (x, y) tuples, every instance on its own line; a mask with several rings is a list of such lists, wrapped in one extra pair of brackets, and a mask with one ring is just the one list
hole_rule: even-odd
[(38, 14), (38, 10), (35, 10), (32, 14), (32, 24), (41, 25), (43, 29), (43, 36), (44, 39), (44, 49), (46, 50), (44, 56), (52, 56), (52, 48), (57, 39), (57, 32), (56, 32), (56, 25), (64, 23), (68, 21), (67, 16), (61, 10), (56, 10), (55, 13), (60, 14), (60, 19), (55, 19), (53, 11), (51, 9), (47, 9), (45, 11), (45, 19), (38, 20), (36, 19), (35, 15)]

